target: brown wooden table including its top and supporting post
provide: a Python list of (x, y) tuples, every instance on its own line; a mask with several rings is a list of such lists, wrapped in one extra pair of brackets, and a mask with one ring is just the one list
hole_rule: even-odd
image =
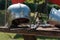
[(0, 28), (0, 32), (18, 33), (23, 35), (24, 40), (36, 40), (36, 36), (56, 37), (60, 38), (60, 30), (58, 28), (42, 28), (38, 27), (36, 30), (29, 30), (28, 28)]

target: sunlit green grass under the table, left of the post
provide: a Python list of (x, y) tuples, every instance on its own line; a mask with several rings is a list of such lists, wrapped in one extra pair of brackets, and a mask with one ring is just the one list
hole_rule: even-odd
[[(14, 38), (16, 37), (16, 38)], [(23, 40), (23, 37), (21, 35), (13, 34), (13, 33), (3, 33), (0, 32), (0, 40)]]

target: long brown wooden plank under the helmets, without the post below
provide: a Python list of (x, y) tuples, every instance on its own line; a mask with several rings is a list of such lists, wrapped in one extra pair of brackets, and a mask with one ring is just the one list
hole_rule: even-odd
[[(48, 30), (46, 30), (48, 29)], [(28, 29), (21, 29), (21, 28), (0, 28), (0, 32), (7, 32), (7, 33), (18, 33), (21, 35), (31, 35), (31, 36), (46, 36), (46, 37), (56, 37), (60, 38), (60, 30), (49, 30), (49, 28), (41, 28), (39, 30), (28, 30)]]

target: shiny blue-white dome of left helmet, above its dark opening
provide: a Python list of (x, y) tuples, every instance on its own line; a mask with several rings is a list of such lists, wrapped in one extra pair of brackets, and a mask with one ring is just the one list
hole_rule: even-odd
[(30, 8), (25, 4), (17, 3), (10, 5), (8, 7), (8, 12), (10, 12), (13, 19), (27, 18), (30, 14)]

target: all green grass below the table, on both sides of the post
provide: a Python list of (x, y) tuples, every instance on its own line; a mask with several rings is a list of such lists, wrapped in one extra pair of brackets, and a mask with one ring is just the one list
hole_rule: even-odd
[[(24, 40), (22, 35), (15, 33), (0, 32), (0, 40)], [(38, 36), (37, 40), (60, 40), (60, 38), (49, 38)]]

